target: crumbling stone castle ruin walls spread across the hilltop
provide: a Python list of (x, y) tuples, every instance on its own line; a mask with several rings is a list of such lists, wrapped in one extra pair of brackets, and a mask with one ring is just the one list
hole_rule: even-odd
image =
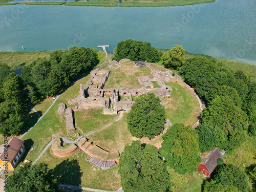
[[(130, 59), (121, 59), (118, 63), (131, 61)], [(117, 61), (116, 61), (117, 62)], [(120, 110), (125, 110), (129, 112), (131, 110), (132, 95), (142, 95), (147, 93), (155, 93), (160, 99), (170, 96), (172, 88), (166, 86), (163, 79), (159, 74), (165, 73), (154, 69), (151, 65), (153, 63), (145, 62), (145, 66), (150, 68), (151, 73), (154, 77), (143, 76), (139, 77), (138, 80), (144, 87), (140, 89), (103, 89), (106, 80), (109, 77), (110, 71), (103, 70), (102, 66), (98, 69), (91, 71), (91, 78), (89, 83), (86, 85), (80, 85), (80, 95), (73, 100), (69, 100), (69, 104), (78, 103), (79, 109), (88, 109), (90, 107), (103, 107), (104, 114), (117, 114)], [(168, 72), (165, 75), (172, 75)], [(164, 76), (163, 76), (164, 77)], [(154, 88), (152, 81), (156, 81), (160, 88)], [(94, 85), (94, 83), (100, 83), (99, 86)], [(145, 87), (150, 86), (152, 89), (146, 89)], [(110, 95), (110, 97), (104, 97), (104, 95)], [(129, 101), (118, 101), (120, 96), (130, 96)]]

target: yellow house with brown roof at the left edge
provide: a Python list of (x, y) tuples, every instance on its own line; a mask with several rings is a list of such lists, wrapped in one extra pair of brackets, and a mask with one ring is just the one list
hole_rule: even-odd
[(6, 166), (8, 169), (15, 169), (25, 152), (23, 143), (24, 141), (13, 137), (7, 144), (0, 145), (0, 167), (2, 169)]

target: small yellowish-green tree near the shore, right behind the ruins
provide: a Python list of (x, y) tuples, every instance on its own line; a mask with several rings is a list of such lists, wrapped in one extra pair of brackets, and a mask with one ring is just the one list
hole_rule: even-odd
[(182, 46), (178, 45), (174, 46), (171, 50), (164, 52), (162, 55), (164, 67), (173, 67), (174, 69), (179, 70), (182, 66), (182, 61), (185, 60), (184, 53), (185, 50)]

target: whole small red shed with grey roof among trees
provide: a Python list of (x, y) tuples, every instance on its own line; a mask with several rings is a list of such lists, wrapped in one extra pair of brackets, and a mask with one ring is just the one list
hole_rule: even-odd
[(210, 177), (210, 174), (218, 164), (217, 159), (221, 159), (224, 153), (225, 151), (222, 151), (221, 153), (217, 147), (212, 148), (210, 152), (204, 152), (201, 155), (201, 163), (197, 169), (198, 172), (203, 172), (206, 177)]

